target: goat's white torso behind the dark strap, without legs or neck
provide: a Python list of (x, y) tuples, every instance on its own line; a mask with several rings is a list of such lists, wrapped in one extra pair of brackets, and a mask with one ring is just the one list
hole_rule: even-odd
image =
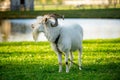
[(82, 47), (83, 30), (77, 25), (62, 26), (58, 48), (63, 51), (75, 51)]

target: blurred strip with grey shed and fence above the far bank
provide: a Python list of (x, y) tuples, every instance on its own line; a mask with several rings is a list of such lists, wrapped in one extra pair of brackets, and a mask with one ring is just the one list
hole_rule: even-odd
[(0, 0), (0, 11), (120, 8), (120, 0)]

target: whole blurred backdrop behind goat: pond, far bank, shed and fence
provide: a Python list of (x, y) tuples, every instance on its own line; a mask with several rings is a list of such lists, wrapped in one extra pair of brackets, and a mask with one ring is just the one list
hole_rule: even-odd
[(120, 38), (120, 0), (0, 0), (0, 42), (33, 40), (30, 25), (46, 13), (80, 24), (84, 39)]

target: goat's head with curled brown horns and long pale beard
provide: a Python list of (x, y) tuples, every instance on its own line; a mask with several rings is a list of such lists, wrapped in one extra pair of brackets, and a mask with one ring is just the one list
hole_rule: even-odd
[(37, 21), (31, 25), (33, 29), (33, 39), (36, 41), (39, 33), (45, 31), (45, 25), (50, 25), (51, 27), (58, 26), (58, 17), (64, 19), (64, 16), (58, 14), (46, 14), (44, 16), (38, 16)]

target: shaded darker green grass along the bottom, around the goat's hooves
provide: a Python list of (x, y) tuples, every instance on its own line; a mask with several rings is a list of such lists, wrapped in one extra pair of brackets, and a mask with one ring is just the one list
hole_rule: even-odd
[(1, 80), (120, 80), (120, 63), (105, 65), (83, 65), (79, 71), (76, 66), (69, 73), (58, 72), (57, 64), (2, 64), (0, 65)]

